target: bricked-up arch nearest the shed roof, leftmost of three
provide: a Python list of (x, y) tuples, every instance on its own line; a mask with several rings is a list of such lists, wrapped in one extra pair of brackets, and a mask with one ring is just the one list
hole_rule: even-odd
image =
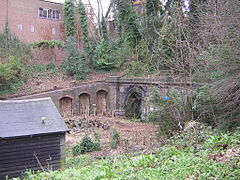
[(62, 117), (72, 116), (72, 98), (63, 97), (59, 101)]

